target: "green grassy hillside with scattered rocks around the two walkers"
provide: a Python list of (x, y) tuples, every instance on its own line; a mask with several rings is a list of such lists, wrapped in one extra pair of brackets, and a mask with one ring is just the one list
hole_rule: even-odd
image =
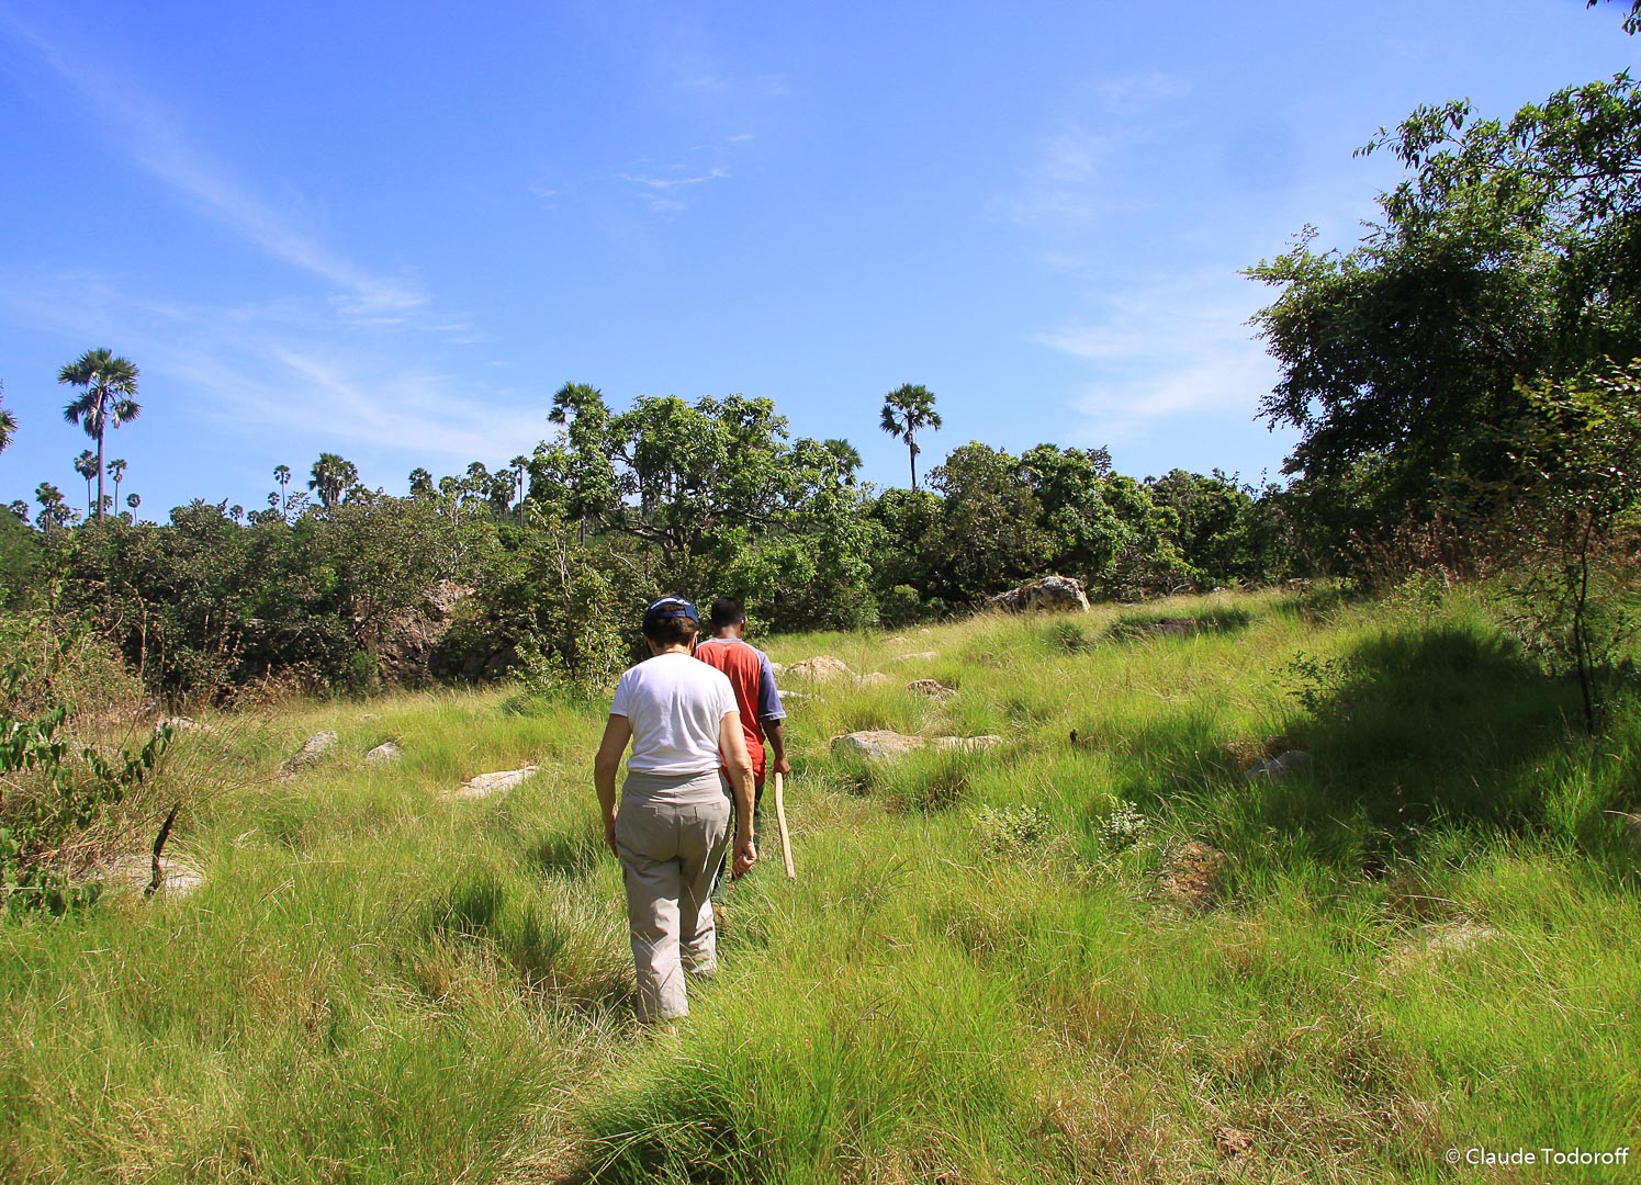
[[(1580, 739), (1575, 688), (1475, 602), (770, 650), (893, 679), (786, 683), (798, 880), (770, 844), (719, 978), (653, 1034), (599, 706), (402, 696), (184, 737), (203, 885), (0, 924), (0, 1180), (1505, 1180), (1446, 1151), (1641, 1146), (1641, 849), (1613, 814), (1641, 806), (1641, 711)], [(320, 729), (336, 748), (276, 780)], [(834, 757), (855, 729), (1003, 742)]]

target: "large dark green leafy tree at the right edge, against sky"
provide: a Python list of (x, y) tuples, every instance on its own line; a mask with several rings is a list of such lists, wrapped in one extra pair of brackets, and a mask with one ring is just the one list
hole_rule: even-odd
[(1370, 532), (1428, 535), (1462, 563), (1464, 481), (1503, 476), (1490, 425), (1523, 410), (1518, 377), (1566, 379), (1641, 353), (1641, 92), (1628, 75), (1556, 92), (1510, 120), (1421, 107), (1364, 149), (1408, 177), (1349, 253), (1313, 233), (1252, 276), (1280, 289), (1255, 317), (1282, 369), (1262, 414), (1303, 438), (1290, 474), (1347, 483), (1372, 458)]

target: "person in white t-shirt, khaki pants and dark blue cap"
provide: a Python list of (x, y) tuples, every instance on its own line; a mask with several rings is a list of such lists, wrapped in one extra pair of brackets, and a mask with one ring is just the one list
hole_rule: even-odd
[[(604, 740), (592, 762), (604, 839), (622, 862), (640, 1021), (689, 1013), (686, 973), (717, 967), (712, 880), (735, 840), (730, 872), (758, 858), (752, 842), (752, 758), (735, 691), (722, 671), (691, 658), (701, 614), (661, 597), (643, 614), (650, 658), (615, 684)], [(615, 775), (627, 781), (620, 808)]]

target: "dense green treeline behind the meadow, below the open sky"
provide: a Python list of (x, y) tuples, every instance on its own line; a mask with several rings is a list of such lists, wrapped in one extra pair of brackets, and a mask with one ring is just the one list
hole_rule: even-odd
[[(502, 473), (369, 491), (323, 455), (312, 497), (192, 502), (167, 524), (8, 514), (16, 604), (92, 620), (156, 691), (225, 696), (484, 678), (602, 686), (663, 591), (743, 599), (763, 629), (901, 627), (967, 611), (1045, 573), (1091, 594), (1259, 584), (1310, 571), (1282, 491), (1224, 474), (1136, 481), (1104, 450), (953, 450), (932, 489), (858, 481), (847, 442), (791, 438), (768, 399), (638, 399), (584, 384), (558, 432)], [(33, 594), (26, 591), (34, 591)]]

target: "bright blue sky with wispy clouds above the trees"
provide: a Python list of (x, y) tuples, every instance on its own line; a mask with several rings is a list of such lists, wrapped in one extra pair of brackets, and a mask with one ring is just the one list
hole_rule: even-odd
[(1415, 105), (1626, 69), (1584, 0), (750, 5), (0, 0), (0, 502), (84, 506), (57, 369), (141, 368), (143, 515), (320, 451), (404, 492), (528, 453), (565, 381), (768, 396), (1134, 476), (1275, 476), (1242, 268), (1349, 246)]

